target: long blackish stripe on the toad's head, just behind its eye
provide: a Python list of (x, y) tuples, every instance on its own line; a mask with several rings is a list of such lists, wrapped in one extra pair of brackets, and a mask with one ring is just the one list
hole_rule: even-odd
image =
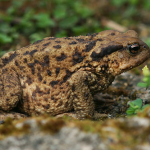
[(109, 55), (115, 51), (121, 50), (123, 45), (109, 45), (107, 47), (102, 48), (100, 53), (92, 52), (91, 57), (93, 61), (99, 61), (99, 59), (103, 58), (105, 55)]

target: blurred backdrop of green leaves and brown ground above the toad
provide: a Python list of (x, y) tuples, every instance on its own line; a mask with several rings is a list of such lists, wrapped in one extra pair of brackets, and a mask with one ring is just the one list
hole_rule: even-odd
[(47, 36), (136, 30), (150, 46), (150, 0), (0, 0), (0, 56)]

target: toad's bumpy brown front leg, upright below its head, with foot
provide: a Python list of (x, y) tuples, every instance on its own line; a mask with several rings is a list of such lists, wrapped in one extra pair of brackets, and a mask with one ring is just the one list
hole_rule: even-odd
[(71, 90), (69, 101), (72, 102), (75, 113), (67, 113), (67, 115), (78, 119), (100, 118), (102, 115), (95, 112), (91, 93), (93, 89), (98, 88), (96, 75), (88, 71), (77, 71), (68, 82)]

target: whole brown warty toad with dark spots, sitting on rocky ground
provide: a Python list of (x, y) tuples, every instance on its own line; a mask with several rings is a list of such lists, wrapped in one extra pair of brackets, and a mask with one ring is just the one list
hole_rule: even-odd
[(135, 31), (47, 37), (0, 59), (0, 110), (96, 118), (93, 95), (149, 58)]

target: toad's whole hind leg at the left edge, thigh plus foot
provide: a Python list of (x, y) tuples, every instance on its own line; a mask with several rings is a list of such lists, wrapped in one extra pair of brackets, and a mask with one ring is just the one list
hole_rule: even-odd
[(11, 111), (14, 109), (22, 96), (20, 80), (15, 71), (3, 71), (0, 76), (0, 124), (7, 117), (19, 119), (27, 117)]

